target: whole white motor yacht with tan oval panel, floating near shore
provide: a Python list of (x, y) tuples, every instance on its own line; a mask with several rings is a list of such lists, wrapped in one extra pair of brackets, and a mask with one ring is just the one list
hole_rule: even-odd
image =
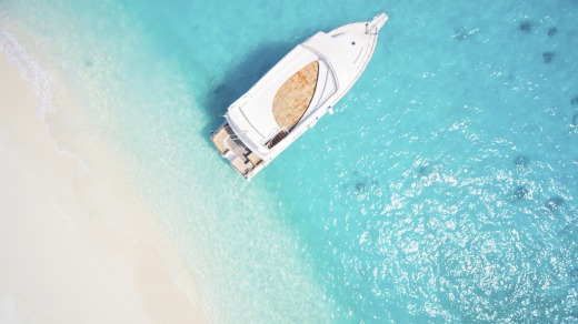
[(388, 17), (318, 32), (233, 102), (211, 140), (250, 180), (312, 128), (359, 79)]

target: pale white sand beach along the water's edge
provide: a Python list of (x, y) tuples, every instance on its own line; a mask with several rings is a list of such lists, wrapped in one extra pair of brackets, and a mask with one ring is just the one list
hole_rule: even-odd
[(59, 151), (38, 105), (0, 52), (0, 323), (206, 322), (191, 275), (121, 170), (92, 179)]

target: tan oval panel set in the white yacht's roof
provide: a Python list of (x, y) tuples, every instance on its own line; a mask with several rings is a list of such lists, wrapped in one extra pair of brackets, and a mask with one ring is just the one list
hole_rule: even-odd
[(273, 99), (273, 117), (280, 129), (290, 131), (303, 117), (315, 94), (319, 63), (313, 61), (291, 75)]

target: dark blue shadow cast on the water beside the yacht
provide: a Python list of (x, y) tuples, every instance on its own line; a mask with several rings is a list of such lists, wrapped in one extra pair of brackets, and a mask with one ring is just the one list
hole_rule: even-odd
[(209, 122), (202, 128), (201, 136), (210, 142), (210, 132), (225, 121), (227, 108), (249, 91), (293, 47), (295, 43), (260, 45), (227, 71), (221, 80), (213, 80), (202, 104), (207, 110)]

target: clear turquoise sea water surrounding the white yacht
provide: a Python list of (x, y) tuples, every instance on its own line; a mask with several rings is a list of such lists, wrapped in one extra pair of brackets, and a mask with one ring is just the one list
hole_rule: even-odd
[[(209, 141), (227, 105), (381, 10), (336, 114), (245, 182)], [(0, 18), (81, 102), (81, 125), (43, 108), (63, 144), (90, 154), (97, 130), (131, 166), (213, 321), (578, 322), (577, 1), (4, 0)]]

